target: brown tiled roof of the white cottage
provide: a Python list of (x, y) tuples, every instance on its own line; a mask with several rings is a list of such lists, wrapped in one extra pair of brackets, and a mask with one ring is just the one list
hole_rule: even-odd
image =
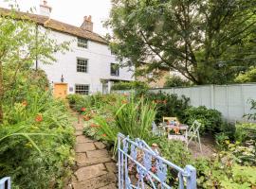
[[(10, 12), (11, 12), (10, 9), (0, 8), (0, 15), (7, 16), (10, 14)], [(67, 33), (76, 37), (85, 38), (93, 42), (108, 44), (108, 42), (104, 38), (102, 38), (99, 34), (95, 32), (82, 29), (81, 27), (78, 27), (78, 26), (68, 25), (60, 21), (51, 19), (47, 16), (21, 12), (21, 11), (18, 11), (17, 15), (18, 17), (22, 17), (22, 19), (30, 19), (31, 21), (37, 23), (38, 25), (45, 26), (46, 28)]]

